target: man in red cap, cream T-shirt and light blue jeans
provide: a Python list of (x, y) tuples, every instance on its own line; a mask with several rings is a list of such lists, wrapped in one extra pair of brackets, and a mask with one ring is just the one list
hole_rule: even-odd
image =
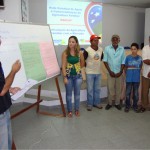
[(87, 110), (91, 111), (92, 107), (102, 109), (100, 104), (100, 64), (103, 56), (103, 50), (98, 46), (100, 37), (91, 35), (90, 43), (84, 52), (86, 59), (86, 80), (87, 80)]

